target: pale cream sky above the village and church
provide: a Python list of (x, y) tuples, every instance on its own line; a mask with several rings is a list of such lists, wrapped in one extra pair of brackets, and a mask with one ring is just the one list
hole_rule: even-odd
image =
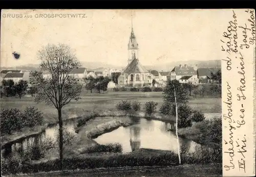
[[(82, 15), (39, 18), (39, 14)], [(37, 51), (48, 43), (70, 45), (81, 62), (126, 66), (132, 14), (138, 58), (143, 65), (154, 65), (220, 59), (220, 39), (228, 24), (224, 17), (232, 16), (232, 11), (5, 10), (1, 16), (1, 67), (39, 64)], [(20, 53), (20, 59), (14, 59), (14, 51)]]

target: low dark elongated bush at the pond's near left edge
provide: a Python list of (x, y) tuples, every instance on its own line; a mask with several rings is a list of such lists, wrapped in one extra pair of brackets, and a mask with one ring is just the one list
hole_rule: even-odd
[(85, 153), (121, 153), (122, 152), (122, 145), (120, 143), (108, 143), (108, 144), (96, 144), (95, 146), (88, 147), (83, 149), (81, 154)]

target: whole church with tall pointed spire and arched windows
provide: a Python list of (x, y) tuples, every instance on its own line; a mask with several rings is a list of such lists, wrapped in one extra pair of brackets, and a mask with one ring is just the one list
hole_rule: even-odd
[(119, 86), (151, 86), (152, 74), (140, 63), (138, 56), (139, 44), (137, 43), (132, 25), (132, 32), (128, 44), (128, 63), (118, 77)]

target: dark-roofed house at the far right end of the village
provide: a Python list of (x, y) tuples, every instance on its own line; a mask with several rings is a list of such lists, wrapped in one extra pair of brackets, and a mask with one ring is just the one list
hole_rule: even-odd
[(211, 80), (211, 72), (216, 73), (221, 68), (198, 68), (197, 69), (197, 75), (199, 79), (199, 83), (210, 83), (212, 82)]

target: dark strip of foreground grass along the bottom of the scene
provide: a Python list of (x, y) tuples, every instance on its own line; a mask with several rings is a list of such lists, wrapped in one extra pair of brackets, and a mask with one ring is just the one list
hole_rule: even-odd
[[(151, 151), (154, 153), (151, 153)], [(148, 155), (150, 154), (150, 155)], [(210, 150), (200, 148), (195, 153), (181, 154), (182, 164), (207, 164), (221, 163), (222, 150)], [(63, 168), (66, 170), (77, 170), (87, 168), (109, 168), (121, 166), (175, 166), (178, 165), (178, 155), (172, 151), (158, 151), (153, 149), (139, 149), (131, 154), (119, 154), (101, 157), (75, 157), (65, 158)], [(17, 161), (2, 161), (3, 174), (15, 173), (36, 173), (58, 171), (60, 169), (59, 159), (50, 160), (36, 164), (20, 164)]]

